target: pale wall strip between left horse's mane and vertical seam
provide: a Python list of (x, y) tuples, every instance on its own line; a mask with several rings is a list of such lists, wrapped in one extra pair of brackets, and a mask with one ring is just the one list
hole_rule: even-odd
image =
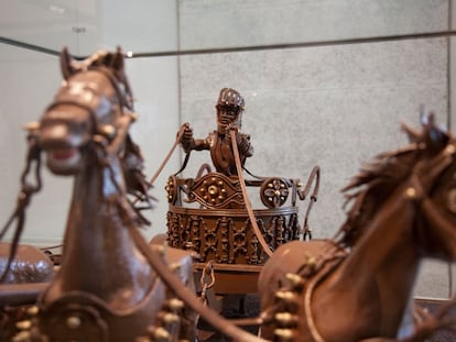
[[(131, 133), (145, 158), (144, 174), (151, 179), (173, 146), (180, 128), (177, 58), (127, 59), (127, 73), (139, 113)], [(150, 228), (143, 230), (148, 238), (166, 232), (167, 199), (164, 187), (169, 175), (178, 169), (178, 152), (172, 155), (151, 190), (158, 202), (152, 211), (144, 211), (152, 222)]]

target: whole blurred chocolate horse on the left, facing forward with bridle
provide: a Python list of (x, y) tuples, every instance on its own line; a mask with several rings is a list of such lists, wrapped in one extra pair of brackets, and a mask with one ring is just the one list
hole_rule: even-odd
[[(188, 253), (149, 245), (138, 231), (148, 222), (128, 194), (146, 203), (150, 196), (129, 134), (137, 114), (121, 51), (75, 62), (65, 49), (61, 63), (63, 85), (40, 123), (29, 128), (29, 156), (39, 180), (41, 152), (54, 174), (75, 177), (63, 261), (14, 339), (192, 340), (198, 311), (238, 340), (259, 340), (203, 306), (192, 291)], [(40, 187), (24, 184), (21, 203)], [(26, 206), (18, 207), (15, 241)]]

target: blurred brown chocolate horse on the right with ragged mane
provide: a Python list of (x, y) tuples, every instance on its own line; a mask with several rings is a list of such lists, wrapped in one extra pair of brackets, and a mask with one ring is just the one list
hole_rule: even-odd
[(380, 155), (345, 188), (352, 207), (335, 240), (291, 242), (265, 263), (264, 338), (424, 339), (404, 322), (422, 260), (456, 261), (456, 141), (433, 117), (423, 126), (408, 129), (413, 143)]

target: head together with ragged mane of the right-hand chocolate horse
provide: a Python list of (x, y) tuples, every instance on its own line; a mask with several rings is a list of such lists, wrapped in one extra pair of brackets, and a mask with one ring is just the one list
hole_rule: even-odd
[[(422, 131), (417, 131), (403, 124), (411, 143), (378, 155), (343, 189), (347, 202), (352, 206), (336, 235), (339, 243), (355, 246), (369, 229), (379, 203), (405, 185), (404, 198), (413, 200), (417, 210), (415, 234), (421, 252), (426, 256), (455, 260), (456, 229), (450, 229), (456, 223), (455, 140), (435, 124), (434, 114), (423, 117), (422, 125)], [(438, 239), (441, 243), (436, 241), (439, 233), (446, 236)], [(446, 252), (439, 253), (438, 249)]]

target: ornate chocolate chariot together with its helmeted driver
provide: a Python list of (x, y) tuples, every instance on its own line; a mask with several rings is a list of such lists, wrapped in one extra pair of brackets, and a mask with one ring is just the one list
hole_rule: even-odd
[[(316, 181), (310, 206), (316, 201), (319, 168), (314, 168), (305, 187), (300, 179), (253, 176), (245, 168), (253, 147), (250, 136), (240, 132), (242, 96), (232, 88), (221, 89), (216, 110), (217, 130), (206, 139), (195, 139), (188, 123), (177, 134), (186, 158), (166, 185), (167, 241), (196, 253), (199, 271), (213, 262), (216, 293), (257, 293), (258, 274), (272, 251), (310, 234), (308, 210), (302, 228), (296, 199), (304, 200)], [(178, 177), (193, 150), (209, 150), (216, 172), (204, 164), (195, 178)], [(245, 179), (243, 172), (253, 179)], [(247, 188), (259, 191), (264, 208), (251, 208)]]

